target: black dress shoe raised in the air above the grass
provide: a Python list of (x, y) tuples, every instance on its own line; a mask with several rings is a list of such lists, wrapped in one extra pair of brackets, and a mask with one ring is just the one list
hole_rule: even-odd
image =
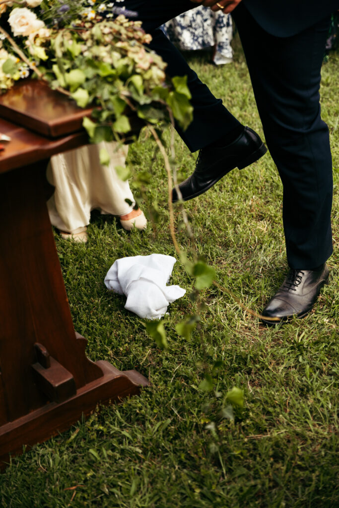
[[(191, 176), (179, 184), (183, 201), (206, 192), (224, 175), (238, 167), (243, 169), (257, 161), (267, 148), (257, 133), (245, 127), (232, 143), (221, 146), (206, 146), (199, 151), (196, 167)], [(172, 189), (172, 202), (178, 201), (177, 192)]]

